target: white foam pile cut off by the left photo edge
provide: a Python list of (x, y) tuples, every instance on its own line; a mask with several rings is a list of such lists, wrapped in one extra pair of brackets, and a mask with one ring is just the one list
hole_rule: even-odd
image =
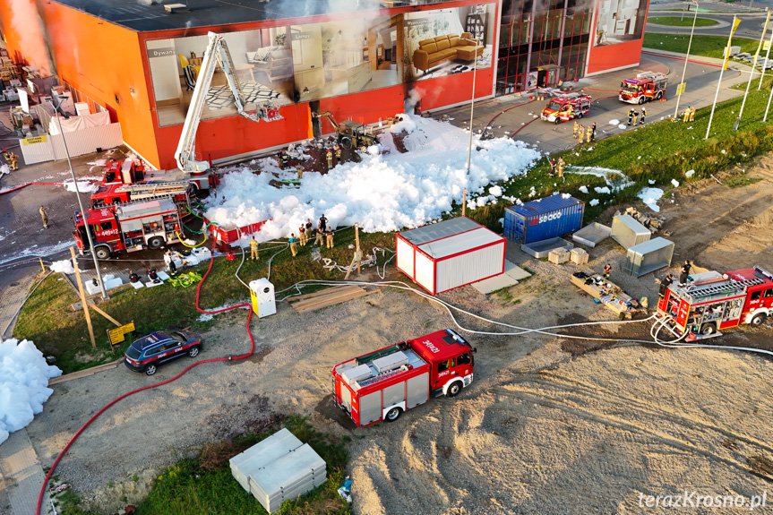
[(48, 380), (60, 375), (62, 371), (48, 365), (31, 341), (6, 339), (0, 343), (0, 443), (43, 411), (43, 403), (54, 393)]

